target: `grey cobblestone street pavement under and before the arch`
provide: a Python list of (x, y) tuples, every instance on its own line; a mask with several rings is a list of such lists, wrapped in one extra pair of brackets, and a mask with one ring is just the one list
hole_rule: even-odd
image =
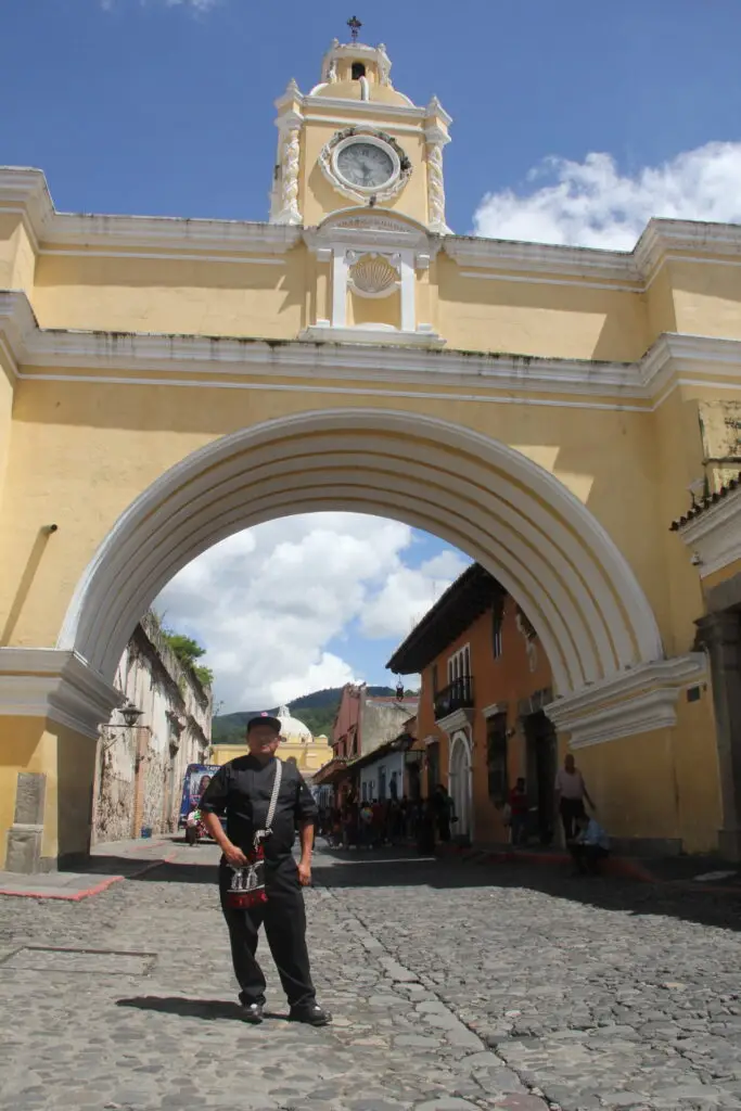
[(276, 1010), (256, 1028), (216, 859), (182, 848), (81, 903), (0, 899), (1, 1108), (741, 1111), (728, 898), (319, 853), (309, 929), (334, 1024), (286, 1022), (266, 955)]

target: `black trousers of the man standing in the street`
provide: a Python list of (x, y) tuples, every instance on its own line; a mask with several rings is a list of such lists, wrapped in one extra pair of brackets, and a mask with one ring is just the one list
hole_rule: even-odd
[(317, 993), (311, 982), (307, 914), (296, 863), (287, 861), (267, 879), (268, 902), (250, 910), (232, 910), (227, 905), (231, 877), (231, 869), (222, 861), (219, 867), (219, 894), (229, 930), (234, 975), (241, 989), (240, 1001), (248, 1007), (266, 1001), (266, 978), (256, 959), (260, 927), (264, 925), (289, 1005), (310, 1007)]

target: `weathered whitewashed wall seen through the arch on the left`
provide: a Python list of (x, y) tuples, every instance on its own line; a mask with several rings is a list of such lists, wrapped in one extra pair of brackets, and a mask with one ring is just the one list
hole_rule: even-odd
[(186, 768), (208, 760), (211, 692), (177, 659), (151, 615), (123, 653), (116, 684), (139, 710), (137, 724), (114, 711), (101, 728), (93, 843), (178, 828)]

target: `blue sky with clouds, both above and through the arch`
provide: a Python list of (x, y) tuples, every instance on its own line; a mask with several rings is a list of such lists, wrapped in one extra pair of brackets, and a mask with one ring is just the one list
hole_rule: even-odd
[[(0, 162), (43, 169), (60, 210), (267, 219), (273, 101), (318, 81), (353, 13), (395, 87), (453, 117), (458, 233), (630, 249), (652, 214), (741, 221), (739, 0), (4, 0)], [(402, 526), (297, 518), (158, 605), (207, 644), (227, 709), (274, 704), (383, 681), (463, 565)]]

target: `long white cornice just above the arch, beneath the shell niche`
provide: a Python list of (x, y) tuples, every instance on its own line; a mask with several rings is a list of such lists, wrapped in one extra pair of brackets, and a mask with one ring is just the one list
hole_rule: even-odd
[[(167, 336), (149, 332), (88, 332), (40, 329), (26, 294), (0, 291), (0, 343), (16, 373), (32, 378), (33, 368), (69, 368), (134, 374), (254, 376), (311, 378), (491, 390), (518, 394), (557, 393), (614, 399), (611, 406), (643, 402), (647, 411), (665, 396), (681, 368), (710, 370), (713, 381), (741, 384), (741, 340), (662, 336), (642, 360), (608, 363), (579, 359), (443, 351), (431, 330), (401, 332), (380, 328), (313, 326), (297, 340), (250, 337)], [(419, 350), (414, 350), (419, 348)], [(28, 368), (30, 373), (24, 373)], [(640, 408), (640, 407), (639, 407)]]

